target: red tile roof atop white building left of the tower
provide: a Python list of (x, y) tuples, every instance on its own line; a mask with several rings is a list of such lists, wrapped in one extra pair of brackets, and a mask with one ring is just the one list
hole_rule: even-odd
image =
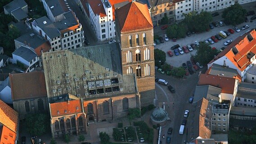
[(100, 15), (100, 17), (107, 16), (101, 0), (89, 0), (88, 3), (94, 14)]

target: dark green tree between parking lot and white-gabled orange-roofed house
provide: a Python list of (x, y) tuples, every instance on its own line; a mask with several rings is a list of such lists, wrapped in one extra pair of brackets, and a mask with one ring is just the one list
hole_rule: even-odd
[(195, 56), (195, 60), (201, 63), (201, 65), (206, 65), (217, 54), (218, 52), (216, 49), (211, 49), (209, 44), (206, 44), (205, 42), (201, 42), (197, 48), (197, 54)]

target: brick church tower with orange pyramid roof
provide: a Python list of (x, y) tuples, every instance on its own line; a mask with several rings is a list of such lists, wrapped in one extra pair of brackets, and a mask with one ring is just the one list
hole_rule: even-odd
[(142, 106), (155, 98), (154, 31), (146, 4), (132, 1), (115, 10), (123, 74), (135, 73)]

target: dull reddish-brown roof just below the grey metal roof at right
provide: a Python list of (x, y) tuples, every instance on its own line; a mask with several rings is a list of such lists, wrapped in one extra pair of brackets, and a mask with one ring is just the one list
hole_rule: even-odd
[(212, 85), (221, 88), (221, 93), (233, 94), (236, 79), (223, 76), (200, 74), (198, 85)]

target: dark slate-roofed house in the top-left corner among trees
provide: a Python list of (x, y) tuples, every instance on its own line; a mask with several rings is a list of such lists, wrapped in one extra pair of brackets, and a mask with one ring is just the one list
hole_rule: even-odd
[(13, 0), (4, 6), (5, 14), (12, 15), (17, 21), (28, 17), (27, 3), (24, 0)]

